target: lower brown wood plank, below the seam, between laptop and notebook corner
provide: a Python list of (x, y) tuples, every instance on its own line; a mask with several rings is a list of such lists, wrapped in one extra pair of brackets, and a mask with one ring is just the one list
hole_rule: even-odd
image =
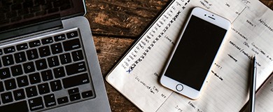
[(126, 99), (120, 92), (115, 90), (109, 83), (106, 83), (105, 76), (111, 68), (123, 56), (123, 53), (130, 47), (134, 39), (113, 38), (106, 36), (93, 36), (96, 46), (99, 64), (106, 86), (106, 92), (112, 111), (140, 111), (132, 102)]

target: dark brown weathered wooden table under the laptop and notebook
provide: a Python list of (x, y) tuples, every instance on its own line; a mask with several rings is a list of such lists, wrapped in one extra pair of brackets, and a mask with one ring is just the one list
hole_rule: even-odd
[[(105, 76), (170, 0), (85, 0), (112, 111), (140, 111)], [(273, 0), (260, 0), (273, 9)]]

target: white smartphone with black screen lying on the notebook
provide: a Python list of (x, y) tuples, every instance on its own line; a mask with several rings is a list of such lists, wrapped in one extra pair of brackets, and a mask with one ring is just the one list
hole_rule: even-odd
[(219, 15), (193, 8), (162, 71), (160, 83), (190, 99), (200, 97), (230, 25), (229, 20)]

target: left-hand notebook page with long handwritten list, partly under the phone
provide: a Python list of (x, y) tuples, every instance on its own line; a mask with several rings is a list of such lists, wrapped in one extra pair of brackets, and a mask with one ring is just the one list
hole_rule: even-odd
[[(186, 20), (186, 15), (188, 15), (190, 9), (194, 6), (207, 8), (234, 22), (240, 13), (248, 7), (246, 6), (247, 4), (248, 2), (239, 0), (173, 1), (169, 8), (165, 10), (165, 13), (141, 36), (139, 41), (127, 52), (127, 55), (116, 65), (115, 69), (109, 73), (107, 80), (142, 111), (157, 111), (162, 104), (163, 106), (160, 109), (167, 109), (167, 111), (172, 109), (172, 103), (167, 102), (171, 101), (170, 99), (174, 98), (177, 94), (162, 87), (162, 85), (158, 83), (158, 80), (162, 68), (167, 61), (169, 52), (171, 52), (174, 43), (176, 43), (183, 22)], [(219, 10), (219, 8), (223, 10)], [(231, 57), (223, 57), (224, 60), (230, 58)], [(217, 66), (217, 70), (217, 68), (223, 68), (224, 66), (228, 66), (226, 68), (229, 68), (230, 64), (216, 63), (214, 66)], [(211, 71), (211, 73), (215, 74), (218, 72), (223, 71)], [(209, 83), (211, 80), (221, 82), (219, 79), (221, 79), (222, 76), (211, 75), (211, 77), (216, 79), (209, 79)], [(235, 81), (235, 83), (237, 83), (237, 81)], [(177, 96), (182, 97), (181, 99), (185, 98), (181, 95)], [(184, 102), (181, 102), (181, 104), (183, 103)], [(186, 101), (186, 103), (188, 103), (188, 101)], [(180, 109), (177, 105), (173, 107), (174, 109)], [(186, 107), (186, 110), (189, 107), (190, 106)], [(217, 106), (212, 104), (211, 107), (216, 108)]]

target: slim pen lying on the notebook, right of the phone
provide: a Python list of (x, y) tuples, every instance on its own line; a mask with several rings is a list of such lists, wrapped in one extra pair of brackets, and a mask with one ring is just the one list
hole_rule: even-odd
[(255, 111), (255, 88), (256, 88), (256, 59), (255, 59), (255, 55), (253, 57), (253, 61), (252, 61), (252, 73), (251, 73), (251, 85), (250, 85), (250, 89), (249, 89), (249, 111), (250, 112), (254, 112)]

